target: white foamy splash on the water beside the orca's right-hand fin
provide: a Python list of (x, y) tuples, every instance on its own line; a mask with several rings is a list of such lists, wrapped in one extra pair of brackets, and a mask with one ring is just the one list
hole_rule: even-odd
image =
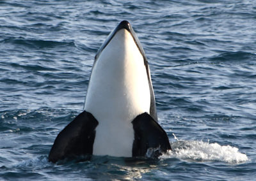
[[(174, 135), (175, 136), (175, 135)], [(230, 145), (219, 145), (204, 141), (178, 140), (172, 143), (172, 151), (164, 154), (160, 159), (177, 157), (186, 161), (222, 161), (230, 164), (239, 164), (248, 161), (246, 154)]]

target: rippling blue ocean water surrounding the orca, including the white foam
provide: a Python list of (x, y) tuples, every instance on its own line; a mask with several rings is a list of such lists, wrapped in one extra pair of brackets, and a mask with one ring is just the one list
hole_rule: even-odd
[[(121, 20), (146, 52), (159, 159), (48, 163)], [(0, 180), (254, 180), (256, 2), (0, 1)]]

